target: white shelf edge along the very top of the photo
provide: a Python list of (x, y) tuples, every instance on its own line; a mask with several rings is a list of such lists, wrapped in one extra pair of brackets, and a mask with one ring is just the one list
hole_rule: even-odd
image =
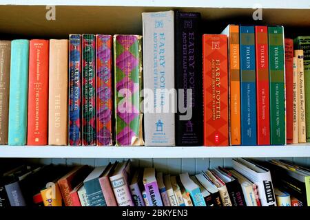
[(192, 7), (192, 8), (282, 8), (309, 9), (309, 0), (2, 0), (2, 5), (91, 5), (91, 6), (130, 6), (130, 7)]

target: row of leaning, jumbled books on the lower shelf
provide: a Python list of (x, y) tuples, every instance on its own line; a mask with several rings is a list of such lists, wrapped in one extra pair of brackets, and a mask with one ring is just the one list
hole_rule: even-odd
[(192, 176), (132, 168), (130, 160), (22, 165), (1, 175), (0, 206), (310, 206), (310, 170), (242, 158)]

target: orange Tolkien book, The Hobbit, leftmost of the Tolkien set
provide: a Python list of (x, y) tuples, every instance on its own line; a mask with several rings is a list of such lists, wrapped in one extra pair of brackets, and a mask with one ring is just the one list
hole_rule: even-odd
[(222, 34), (227, 35), (229, 56), (229, 137), (231, 145), (241, 144), (240, 128), (240, 42), (239, 26), (228, 25)]

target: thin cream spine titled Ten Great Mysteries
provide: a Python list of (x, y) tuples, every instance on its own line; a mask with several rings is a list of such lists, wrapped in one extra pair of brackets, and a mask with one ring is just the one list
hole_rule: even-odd
[(293, 57), (293, 144), (298, 144), (298, 78), (297, 58)]

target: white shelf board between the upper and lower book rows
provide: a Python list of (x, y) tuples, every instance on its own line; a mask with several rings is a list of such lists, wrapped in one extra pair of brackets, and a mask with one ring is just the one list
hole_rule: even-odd
[(228, 147), (0, 146), (0, 157), (25, 158), (224, 158), (310, 157), (310, 145)]

